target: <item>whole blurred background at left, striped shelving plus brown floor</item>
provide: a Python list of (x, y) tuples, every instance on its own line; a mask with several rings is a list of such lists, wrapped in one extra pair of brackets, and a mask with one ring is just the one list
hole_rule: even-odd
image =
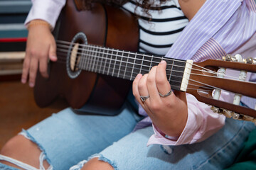
[(23, 58), (28, 31), (23, 25), (31, 8), (31, 0), (0, 0), (0, 149), (4, 143), (65, 107), (56, 101), (39, 108), (33, 89), (21, 84)]

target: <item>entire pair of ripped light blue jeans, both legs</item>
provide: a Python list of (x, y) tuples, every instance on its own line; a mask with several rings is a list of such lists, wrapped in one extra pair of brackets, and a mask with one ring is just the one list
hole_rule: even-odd
[[(223, 169), (230, 166), (255, 125), (227, 119), (224, 128), (203, 142), (193, 145), (146, 147), (154, 133), (151, 127), (132, 132), (139, 116), (125, 108), (116, 116), (77, 115), (70, 108), (23, 130), (21, 135), (41, 149), (40, 162), (46, 159), (49, 170), (79, 170), (93, 157), (108, 162), (117, 170)], [(34, 170), (9, 157), (23, 169)], [(0, 163), (0, 169), (14, 170)], [(43, 167), (41, 167), (43, 169)]]

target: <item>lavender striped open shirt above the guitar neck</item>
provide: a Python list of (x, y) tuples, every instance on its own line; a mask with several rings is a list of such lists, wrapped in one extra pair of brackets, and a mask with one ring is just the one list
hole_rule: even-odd
[(201, 61), (232, 53), (255, 33), (255, 12), (253, 0), (208, 0), (166, 56)]

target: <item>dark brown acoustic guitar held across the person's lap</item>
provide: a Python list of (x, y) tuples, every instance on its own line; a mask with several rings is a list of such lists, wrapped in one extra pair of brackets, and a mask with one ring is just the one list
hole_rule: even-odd
[[(193, 62), (142, 54), (136, 52), (137, 24), (137, 18), (122, 8), (93, 4), (90, 11), (82, 11), (75, 1), (67, 1), (55, 28), (58, 62), (49, 63), (48, 79), (39, 73), (36, 78), (38, 106), (62, 96), (72, 108), (115, 114), (137, 74), (165, 60), (172, 89), (192, 94), (215, 113), (256, 123), (256, 111), (239, 105), (241, 96), (256, 98), (256, 84), (245, 81), (247, 72), (256, 72), (254, 59), (227, 55), (223, 60)], [(226, 69), (238, 70), (240, 77), (225, 75)], [(223, 91), (234, 94), (233, 103), (219, 100)]]

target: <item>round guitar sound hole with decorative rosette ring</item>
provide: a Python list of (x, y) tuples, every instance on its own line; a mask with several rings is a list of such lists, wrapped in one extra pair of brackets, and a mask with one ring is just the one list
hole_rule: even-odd
[(78, 77), (81, 72), (79, 63), (84, 45), (87, 45), (86, 35), (84, 33), (77, 33), (70, 43), (66, 60), (66, 69), (71, 79)]

